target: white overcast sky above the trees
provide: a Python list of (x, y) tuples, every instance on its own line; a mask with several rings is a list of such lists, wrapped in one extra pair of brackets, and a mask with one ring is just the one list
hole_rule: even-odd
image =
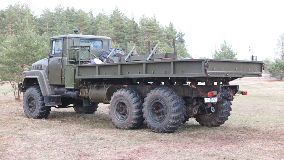
[[(231, 44), (239, 60), (257, 60), (266, 57), (273, 60), (277, 39), (284, 31), (284, 1), (74, 1), (74, 0), (9, 0), (0, 3), (0, 9), (9, 4), (26, 3), (36, 15), (47, 7), (53, 10), (58, 4), (61, 7), (83, 9), (97, 15), (102, 9), (107, 15), (117, 6), (129, 18), (131, 12), (138, 22), (139, 17), (156, 15), (163, 26), (172, 22), (175, 28), (185, 33), (187, 49), (193, 58), (212, 58), (212, 52), (220, 49), (226, 40)], [(249, 48), (250, 46), (250, 48)], [(251, 51), (249, 51), (251, 49)]]

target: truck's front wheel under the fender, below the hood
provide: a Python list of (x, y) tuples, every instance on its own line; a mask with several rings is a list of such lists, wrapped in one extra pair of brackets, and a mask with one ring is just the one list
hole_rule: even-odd
[(45, 106), (41, 88), (32, 86), (27, 89), (24, 95), (24, 111), (28, 118), (46, 119), (51, 111), (49, 106)]

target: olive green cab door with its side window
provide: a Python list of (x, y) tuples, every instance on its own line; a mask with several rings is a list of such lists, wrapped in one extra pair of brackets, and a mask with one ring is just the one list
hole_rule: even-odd
[(52, 39), (50, 43), (50, 58), (48, 60), (49, 84), (62, 84), (61, 63), (62, 63), (62, 39)]

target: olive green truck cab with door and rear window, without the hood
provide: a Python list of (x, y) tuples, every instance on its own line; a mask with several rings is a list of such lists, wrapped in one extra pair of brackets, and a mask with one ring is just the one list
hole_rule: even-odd
[[(99, 57), (106, 49), (111, 48), (109, 37), (91, 35), (62, 35), (50, 39), (47, 75), (49, 84), (64, 85), (64, 68), (68, 64), (68, 48), (70, 46), (90, 46), (91, 55)], [(94, 56), (85, 58), (90, 61)]]

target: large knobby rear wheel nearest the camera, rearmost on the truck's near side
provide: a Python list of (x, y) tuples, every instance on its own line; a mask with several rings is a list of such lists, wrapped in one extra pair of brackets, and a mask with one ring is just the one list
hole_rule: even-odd
[(185, 105), (173, 89), (157, 87), (145, 97), (142, 111), (147, 127), (154, 132), (168, 133), (175, 132), (183, 124)]

